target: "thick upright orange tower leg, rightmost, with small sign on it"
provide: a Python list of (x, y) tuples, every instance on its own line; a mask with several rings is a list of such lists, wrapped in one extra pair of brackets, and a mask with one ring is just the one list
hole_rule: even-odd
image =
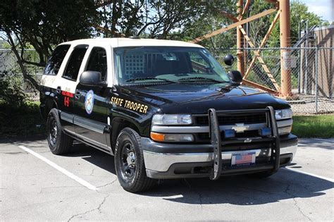
[(290, 0), (280, 0), (280, 94), (291, 95)]

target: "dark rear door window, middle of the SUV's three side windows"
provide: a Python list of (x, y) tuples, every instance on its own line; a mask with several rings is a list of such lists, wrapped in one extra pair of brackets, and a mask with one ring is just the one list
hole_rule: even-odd
[(70, 59), (68, 60), (65, 72), (63, 73), (63, 78), (77, 80), (82, 59), (85, 56), (87, 48), (87, 45), (79, 45), (73, 49), (72, 54), (70, 54)]

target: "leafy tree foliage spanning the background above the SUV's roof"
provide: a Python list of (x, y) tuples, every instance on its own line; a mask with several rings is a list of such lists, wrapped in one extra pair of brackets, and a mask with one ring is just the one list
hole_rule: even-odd
[[(16, 55), (23, 78), (37, 89), (38, 82), (27, 68), (44, 67), (54, 47), (68, 40), (94, 37), (140, 35), (159, 39), (189, 41), (233, 23), (237, 0), (2, 0), (0, 1), (0, 35)], [(254, 0), (247, 16), (255, 15), (273, 4)], [(249, 36), (259, 46), (274, 14), (249, 23)], [(232, 19), (231, 19), (232, 18)], [(297, 40), (299, 20), (323, 25), (323, 20), (307, 11), (305, 4), (292, 1), (291, 44)], [(267, 46), (279, 47), (279, 26), (273, 30)], [(235, 47), (235, 29), (204, 39), (200, 44), (219, 54), (219, 48)], [(30, 59), (23, 49), (35, 49), (38, 59)]]

